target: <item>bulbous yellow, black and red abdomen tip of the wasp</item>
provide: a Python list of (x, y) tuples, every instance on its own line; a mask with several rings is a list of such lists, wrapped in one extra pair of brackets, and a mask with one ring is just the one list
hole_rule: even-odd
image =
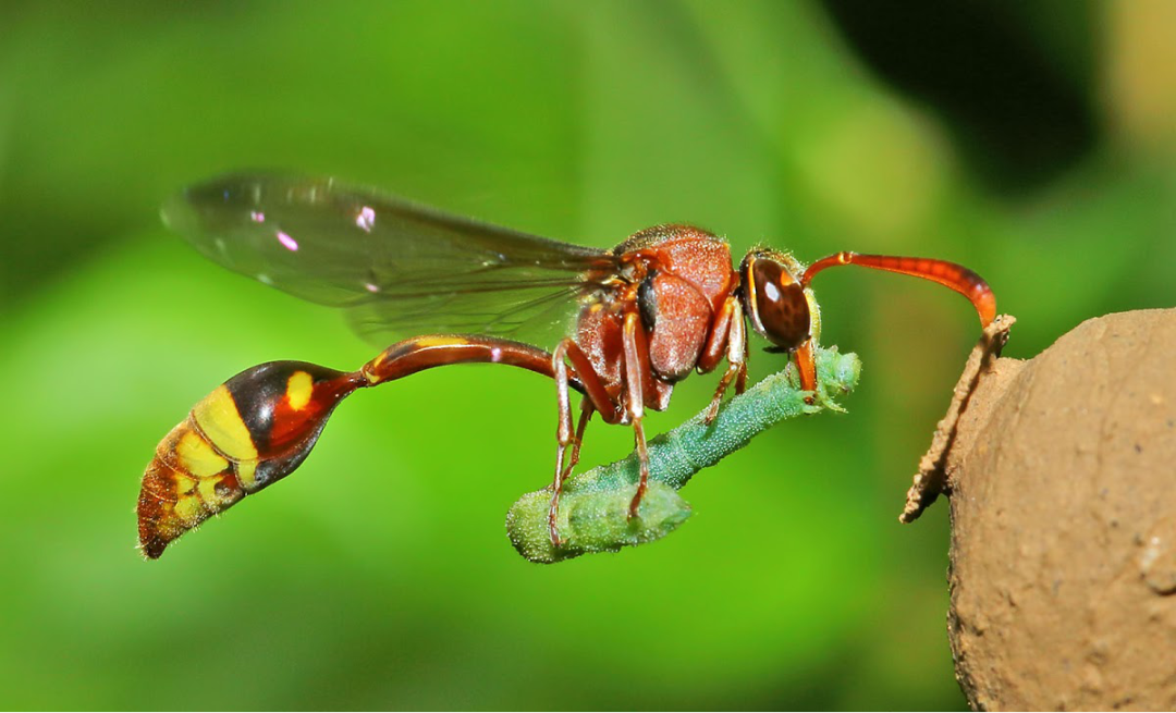
[(155, 559), (209, 515), (281, 480), (310, 453), (360, 378), (303, 361), (246, 369), (205, 397), (155, 449), (139, 493), (139, 546)]

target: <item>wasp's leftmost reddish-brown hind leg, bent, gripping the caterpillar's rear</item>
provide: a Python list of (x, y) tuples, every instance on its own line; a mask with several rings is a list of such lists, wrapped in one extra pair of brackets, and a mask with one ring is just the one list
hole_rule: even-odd
[[(569, 386), (572, 379), (568, 374), (568, 362), (575, 369), (579, 382), (584, 393), (584, 405), (581, 407), (580, 424), (576, 427), (575, 437), (572, 434), (572, 402), (569, 399)], [(560, 420), (556, 428), (555, 447), (555, 478), (552, 481), (552, 506), (547, 514), (547, 527), (552, 537), (552, 546), (560, 547), (564, 540), (560, 538), (560, 493), (563, 491), (563, 480), (572, 474), (572, 468), (580, 459), (580, 444), (583, 441), (584, 428), (588, 426), (588, 418), (593, 411), (599, 411), (601, 418), (607, 424), (620, 422), (623, 411), (613, 401), (604, 388), (587, 354), (570, 338), (560, 341), (555, 347), (555, 353), (550, 359), (552, 375), (555, 379), (556, 400), (560, 409)], [(569, 458), (570, 449), (570, 458)]]

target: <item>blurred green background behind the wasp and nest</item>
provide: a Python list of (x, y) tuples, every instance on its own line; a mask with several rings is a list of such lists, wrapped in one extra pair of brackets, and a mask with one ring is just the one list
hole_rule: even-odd
[[(963, 709), (947, 508), (896, 521), (978, 332), (958, 296), (822, 275), (824, 341), (866, 364), (850, 413), (703, 473), (648, 547), (520, 559), (502, 519), (549, 479), (554, 391), (457, 367), (353, 398), (295, 477), (145, 562), (139, 477), (193, 402), (373, 355), (158, 206), (285, 167), (596, 246), (689, 221), (735, 252), (943, 256), (1029, 356), (1176, 302), (1174, 7), (4, 5), (0, 709)], [(586, 464), (629, 451), (594, 426)]]

